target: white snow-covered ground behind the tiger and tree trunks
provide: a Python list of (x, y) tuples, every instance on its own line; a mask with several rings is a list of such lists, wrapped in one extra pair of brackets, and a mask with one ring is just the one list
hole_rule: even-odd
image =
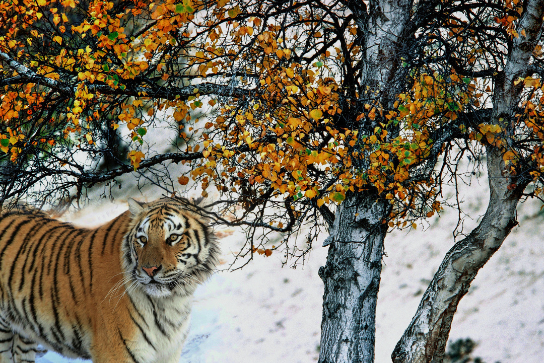
[[(487, 204), (485, 185), (465, 190), (474, 215)], [(119, 214), (124, 206), (102, 205), (95, 223)], [(544, 358), (544, 243), (540, 205), (518, 209), (516, 227), (480, 271), (455, 315), (450, 339), (470, 337), (474, 356), (487, 363), (541, 363)], [(89, 221), (89, 210), (73, 217)], [(444, 254), (453, 245), (456, 211), (446, 210), (425, 230), (394, 231), (386, 237), (376, 314), (376, 363), (391, 362), (391, 352), (417, 309)], [(477, 220), (467, 220), (465, 230)], [(79, 223), (82, 224), (82, 223)], [(234, 229), (221, 229), (225, 261), (243, 241)], [(323, 235), (321, 241), (326, 237)], [(321, 242), (318, 241), (318, 242)], [(281, 267), (279, 253), (257, 256), (235, 272), (219, 272), (195, 294), (192, 327), (180, 362), (313, 362), (319, 354), (323, 283), (318, 277), (326, 248), (314, 245), (304, 268)], [(225, 266), (225, 265), (224, 265)], [(81, 362), (48, 352), (40, 363)]]

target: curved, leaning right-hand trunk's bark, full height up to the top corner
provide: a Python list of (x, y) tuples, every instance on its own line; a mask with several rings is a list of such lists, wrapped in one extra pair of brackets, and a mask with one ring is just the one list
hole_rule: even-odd
[[(541, 38), (544, 0), (529, 0), (522, 14), (520, 30), (526, 36), (514, 38), (503, 74), (499, 75), (493, 95), (492, 122), (503, 127), (506, 141), (513, 134), (516, 108), (522, 86), (519, 77), (530, 73), (529, 59)], [(440, 363), (448, 340), (453, 315), (476, 274), (502, 245), (517, 225), (516, 206), (530, 180), (522, 173), (505, 170), (503, 151), (487, 147), (487, 176), (490, 201), (479, 226), (465, 239), (455, 243), (446, 254), (423, 295), (416, 315), (397, 343), (394, 363)]]

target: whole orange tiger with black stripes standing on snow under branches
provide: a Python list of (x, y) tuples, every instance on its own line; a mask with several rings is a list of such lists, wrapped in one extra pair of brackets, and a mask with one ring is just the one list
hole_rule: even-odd
[(218, 265), (206, 218), (173, 198), (95, 229), (44, 212), (0, 217), (0, 363), (36, 349), (94, 363), (174, 363), (191, 297)]

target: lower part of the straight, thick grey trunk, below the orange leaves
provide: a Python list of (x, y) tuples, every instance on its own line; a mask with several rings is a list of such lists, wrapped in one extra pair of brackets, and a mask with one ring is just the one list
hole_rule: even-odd
[(325, 284), (320, 363), (374, 361), (376, 299), (391, 204), (375, 194), (351, 193), (338, 207)]

